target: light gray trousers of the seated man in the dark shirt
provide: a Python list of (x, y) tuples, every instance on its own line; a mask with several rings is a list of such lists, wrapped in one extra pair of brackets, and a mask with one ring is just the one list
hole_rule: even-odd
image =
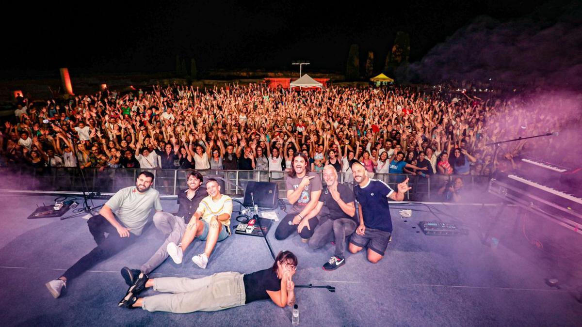
[(160, 232), (164, 234), (166, 240), (154, 255), (141, 265), (140, 270), (145, 274), (152, 272), (157, 266), (161, 265), (162, 262), (168, 258), (168, 243), (180, 243), (182, 236), (184, 236), (184, 230), (186, 230), (186, 223), (184, 223), (184, 218), (170, 214), (169, 212), (156, 212), (154, 214), (154, 225), (155, 228), (159, 229)]

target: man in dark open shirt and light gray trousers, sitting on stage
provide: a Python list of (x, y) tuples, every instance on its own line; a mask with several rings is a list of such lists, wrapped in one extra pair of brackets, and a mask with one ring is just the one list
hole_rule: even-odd
[(161, 211), (154, 214), (155, 228), (164, 233), (166, 240), (158, 248), (158, 251), (152, 255), (150, 260), (141, 265), (140, 269), (130, 269), (127, 267), (121, 269), (121, 275), (127, 285), (131, 286), (140, 275), (140, 272), (148, 275), (157, 266), (161, 265), (168, 258), (168, 244), (171, 242), (179, 242), (182, 239), (187, 223), (190, 222), (190, 218), (194, 215), (198, 205), (200, 205), (200, 201), (208, 195), (205, 187), (201, 186), (202, 182), (203, 177), (199, 172), (196, 170), (190, 172), (186, 182), (188, 188), (178, 192), (178, 213), (173, 215), (169, 212)]

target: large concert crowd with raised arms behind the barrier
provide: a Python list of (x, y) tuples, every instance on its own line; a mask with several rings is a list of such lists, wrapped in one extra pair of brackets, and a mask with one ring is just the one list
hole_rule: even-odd
[(262, 84), (153, 86), (32, 103), (20, 97), (15, 117), (2, 123), (0, 165), (27, 165), (39, 173), (77, 162), (99, 170), (283, 172), (301, 151), (311, 170), (329, 164), (347, 182), (350, 161), (363, 162), (370, 176), (491, 176), (516, 169), (520, 154), (559, 149), (551, 138), (487, 145), (558, 130), (565, 119), (546, 110), (555, 101), (544, 101), (532, 109), (528, 97), (392, 86), (299, 92)]

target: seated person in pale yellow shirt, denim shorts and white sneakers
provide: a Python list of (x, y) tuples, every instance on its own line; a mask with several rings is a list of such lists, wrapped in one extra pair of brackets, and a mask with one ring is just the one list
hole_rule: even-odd
[(206, 269), (208, 258), (217, 242), (230, 236), (230, 215), (232, 214), (232, 198), (220, 193), (220, 185), (214, 178), (206, 181), (208, 196), (200, 201), (198, 209), (190, 219), (182, 242), (178, 245), (168, 243), (168, 254), (176, 264), (182, 263), (183, 253), (195, 237), (206, 241), (204, 253), (192, 257), (194, 264)]

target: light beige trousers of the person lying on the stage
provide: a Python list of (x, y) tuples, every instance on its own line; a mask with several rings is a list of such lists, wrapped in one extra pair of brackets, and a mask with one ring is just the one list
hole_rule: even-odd
[(186, 314), (238, 307), (246, 301), (243, 275), (238, 272), (219, 272), (198, 279), (155, 278), (154, 290), (173, 294), (144, 297), (143, 310)]

